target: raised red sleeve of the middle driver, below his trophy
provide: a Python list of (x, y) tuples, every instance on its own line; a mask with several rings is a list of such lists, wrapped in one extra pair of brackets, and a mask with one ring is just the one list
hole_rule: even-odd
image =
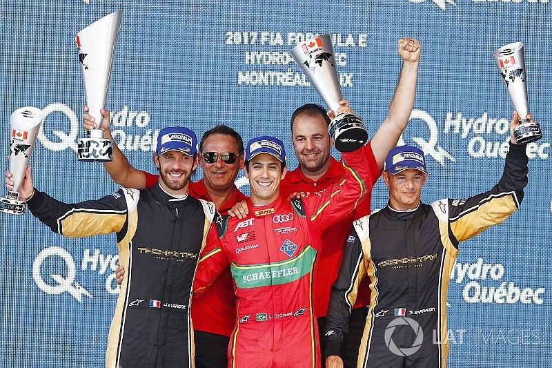
[(322, 197), (309, 195), (305, 198), (306, 215), (318, 229), (326, 229), (351, 213), (369, 194), (367, 186), (372, 187), (364, 148), (342, 153), (342, 165), (345, 177), (339, 184), (327, 188)]

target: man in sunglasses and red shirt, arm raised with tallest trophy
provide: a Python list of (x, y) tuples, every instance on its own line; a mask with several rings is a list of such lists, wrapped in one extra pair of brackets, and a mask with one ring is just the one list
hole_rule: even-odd
[[(88, 110), (85, 106), (85, 110)], [(109, 130), (109, 112), (102, 110), (100, 128), (112, 139)], [(84, 128), (95, 128), (94, 118), (85, 113)], [(113, 140), (113, 139), (112, 139)], [(228, 209), (247, 197), (234, 185), (236, 176), (244, 167), (244, 142), (232, 128), (224, 125), (206, 131), (199, 143), (198, 164), (204, 177), (189, 182), (188, 191), (197, 199), (215, 203), (217, 211), (226, 215)], [(127, 188), (146, 188), (159, 180), (132, 167), (113, 141), (113, 161), (104, 163), (113, 181)], [(120, 272), (121, 275), (124, 271)], [(119, 283), (122, 280), (119, 278)], [(226, 367), (230, 334), (235, 327), (235, 294), (230, 269), (223, 271), (213, 285), (201, 295), (193, 297), (191, 308), (195, 340), (195, 367)]]

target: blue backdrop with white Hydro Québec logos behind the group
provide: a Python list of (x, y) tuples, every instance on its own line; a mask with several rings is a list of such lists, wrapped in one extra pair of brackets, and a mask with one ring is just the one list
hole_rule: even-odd
[[(415, 109), (403, 141), (428, 155), (425, 202), (473, 195), (500, 177), (500, 145), (513, 107), (491, 54), (522, 41), (530, 110), (544, 137), (528, 148), (529, 186), (520, 210), (461, 244), (449, 290), (449, 366), (551, 367), (549, 0), (0, 4), (1, 142), (7, 154), (13, 110), (42, 108), (46, 119), (31, 158), (34, 183), (64, 202), (117, 188), (101, 164), (77, 162), (84, 92), (74, 36), (119, 8), (123, 20), (106, 107), (119, 146), (149, 171), (150, 142), (171, 124), (197, 135), (228, 124), (244, 140), (270, 133), (292, 152), (291, 113), (322, 100), (304, 86), (287, 52), (316, 33), (334, 35), (343, 93), (372, 134), (400, 72), (397, 38), (420, 39)], [(294, 168), (295, 156), (288, 157)], [(239, 177), (241, 185), (243, 173)], [(380, 181), (373, 207), (385, 203)], [(117, 297), (115, 236), (62, 238), (30, 213), (3, 214), (0, 222), (0, 366), (103, 366)], [(497, 298), (500, 288), (526, 289), (533, 297)]]

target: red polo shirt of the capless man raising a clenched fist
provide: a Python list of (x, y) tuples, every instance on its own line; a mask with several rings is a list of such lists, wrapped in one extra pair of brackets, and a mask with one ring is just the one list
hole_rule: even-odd
[[(330, 302), (331, 285), (335, 281), (335, 278), (337, 278), (337, 272), (339, 271), (341, 259), (343, 257), (343, 249), (348, 235), (351, 233), (351, 229), (353, 229), (353, 221), (370, 214), (372, 186), (381, 175), (381, 172), (377, 169), (377, 163), (375, 162), (371, 143), (368, 142), (362, 150), (366, 154), (365, 157), (368, 160), (373, 182), (370, 183), (371, 185), (369, 188), (366, 188), (366, 200), (360, 203), (355, 211), (339, 222), (336, 222), (330, 229), (322, 233), (322, 249), (317, 256), (314, 276), (314, 303), (315, 316), (317, 317), (326, 316), (328, 303)], [(288, 172), (280, 184), (280, 194), (284, 198), (294, 192), (311, 192), (311, 195), (316, 195), (317, 192), (324, 191), (329, 186), (340, 182), (344, 177), (345, 172), (343, 165), (340, 164), (337, 159), (330, 157), (328, 171), (317, 181), (306, 177), (300, 167)], [(368, 185), (368, 183), (366, 183), (366, 185)], [(362, 280), (358, 290), (355, 307), (363, 307), (370, 302), (368, 278)]]

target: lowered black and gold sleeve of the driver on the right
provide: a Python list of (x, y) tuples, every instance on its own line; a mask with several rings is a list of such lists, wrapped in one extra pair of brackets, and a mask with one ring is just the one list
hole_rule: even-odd
[(358, 287), (364, 276), (366, 276), (366, 268), (362, 242), (353, 229), (345, 244), (337, 280), (332, 285), (324, 331), (326, 343), (324, 359), (328, 356), (342, 356), (351, 309), (355, 305)]

